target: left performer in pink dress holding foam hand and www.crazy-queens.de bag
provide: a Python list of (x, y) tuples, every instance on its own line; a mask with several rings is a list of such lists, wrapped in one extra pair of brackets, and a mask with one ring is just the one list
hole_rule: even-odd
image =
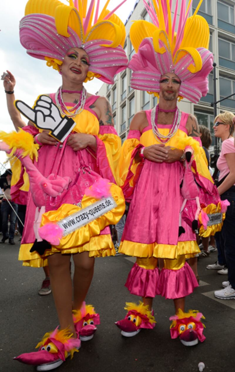
[[(86, 1), (70, 1), (67, 6), (53, 0), (29, 0), (20, 21), (20, 42), (27, 53), (46, 60), (62, 76), (57, 93), (39, 96), (33, 109), (16, 101), (16, 107), (30, 119), (23, 131), (12, 134), (19, 136), (16, 142), (11, 135), (1, 133), (1, 147), (6, 151), (7, 146), (12, 148), (23, 164), (18, 187), (23, 183), (24, 166), (30, 179), (19, 259), (25, 266), (49, 264), (59, 320), (59, 329), (45, 334), (38, 344), (39, 351), (15, 358), (37, 365), (38, 371), (56, 368), (67, 356), (73, 356), (80, 340), (93, 337), (99, 314), (84, 299), (93, 277), (94, 257), (115, 255), (109, 225), (116, 224), (125, 211), (115, 175), (120, 138), (113, 126), (109, 102), (88, 94), (83, 86), (94, 77), (112, 84), (115, 74), (127, 66), (125, 27), (106, 8), (107, 4), (100, 10), (99, 1), (96, 4), (94, 0), (88, 9)], [(57, 120), (61, 122), (56, 126), (56, 135)], [(46, 128), (45, 123), (54, 129), (39, 129)], [(70, 135), (66, 136), (68, 126)], [(22, 152), (27, 146), (33, 148), (30, 155)], [(104, 195), (108, 206), (112, 206), (109, 197), (113, 198), (114, 208), (106, 208)], [(98, 217), (83, 223), (86, 216), (90, 218), (85, 213), (87, 208), (89, 216)], [(105, 214), (103, 209), (107, 209)], [(71, 227), (71, 216), (78, 213), (79, 230), (72, 228), (69, 234), (56, 237), (62, 231), (58, 229), (59, 221), (66, 221), (64, 229)], [(78, 222), (76, 218), (72, 222)], [(71, 256), (75, 266), (73, 288)]]

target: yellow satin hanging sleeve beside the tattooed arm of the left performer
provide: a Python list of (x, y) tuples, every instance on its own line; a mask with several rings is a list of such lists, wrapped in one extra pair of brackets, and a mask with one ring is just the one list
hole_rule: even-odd
[(116, 180), (116, 183), (119, 185), (120, 180), (117, 168), (121, 154), (121, 139), (117, 134), (113, 133), (99, 134), (98, 138), (104, 143), (109, 167), (112, 171), (113, 177)]

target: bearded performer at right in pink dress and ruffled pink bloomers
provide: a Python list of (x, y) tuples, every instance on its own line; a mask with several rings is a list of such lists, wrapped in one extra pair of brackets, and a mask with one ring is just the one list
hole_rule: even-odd
[[(186, 10), (183, 3), (176, 33), (177, 9), (171, 20), (169, 1), (158, 4), (155, 9), (146, 4), (152, 23), (138, 20), (130, 29), (136, 51), (129, 62), (131, 86), (154, 93), (159, 103), (134, 116), (119, 162), (121, 187), (131, 202), (119, 252), (136, 257), (125, 286), (143, 302), (127, 303), (128, 313), (116, 325), (126, 337), (154, 328), (152, 300), (161, 295), (174, 300), (171, 337), (180, 335), (191, 346), (205, 336), (202, 314), (184, 312), (185, 297), (198, 286), (186, 259), (199, 252), (195, 229), (202, 216), (208, 218), (203, 208), (219, 209), (220, 217), (222, 213), (199, 145), (197, 120), (177, 108), (177, 99), (196, 103), (206, 95), (213, 55), (207, 49), (209, 27), (197, 10), (187, 19), (190, 6)], [(164, 260), (161, 272), (159, 258)]]

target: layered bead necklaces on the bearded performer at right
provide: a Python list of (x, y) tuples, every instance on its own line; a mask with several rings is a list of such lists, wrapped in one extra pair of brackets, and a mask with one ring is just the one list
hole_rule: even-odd
[[(171, 128), (169, 130), (169, 133), (166, 136), (164, 136), (158, 131), (158, 127), (157, 127), (158, 111), (175, 112)], [(180, 120), (181, 120), (181, 111), (178, 108), (175, 108), (173, 110), (164, 110), (164, 109), (160, 109), (158, 105), (155, 106), (151, 112), (151, 124), (152, 124), (152, 132), (156, 140), (161, 143), (167, 143), (168, 141), (170, 141), (170, 139), (176, 134), (180, 126)]]

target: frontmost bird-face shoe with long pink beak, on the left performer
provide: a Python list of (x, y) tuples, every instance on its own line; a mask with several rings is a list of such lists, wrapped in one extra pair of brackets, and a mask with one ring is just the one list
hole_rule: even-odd
[(36, 371), (51, 371), (64, 363), (69, 355), (72, 359), (80, 346), (79, 338), (74, 339), (68, 329), (58, 330), (57, 327), (53, 332), (45, 333), (42, 341), (36, 346), (39, 347), (37, 352), (21, 354), (14, 359), (36, 365)]

